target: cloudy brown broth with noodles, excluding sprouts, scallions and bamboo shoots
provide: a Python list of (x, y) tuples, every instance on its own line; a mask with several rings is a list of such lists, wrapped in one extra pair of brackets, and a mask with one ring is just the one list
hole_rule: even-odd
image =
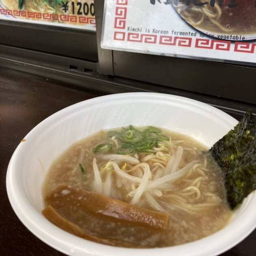
[[(121, 130), (121, 128), (117, 129), (117, 132)], [(112, 222), (98, 218), (89, 212), (82, 211), (79, 207), (65, 204), (58, 204), (59, 212), (89, 234), (139, 243), (145, 247), (166, 247), (188, 243), (213, 234), (226, 226), (231, 217), (231, 211), (226, 202), (222, 171), (208, 154), (208, 149), (189, 136), (162, 128), (161, 132), (171, 139), (158, 143), (156, 152), (133, 152), (131, 154), (141, 163), (149, 165), (151, 182), (164, 176), (164, 168), (172, 155), (177, 156), (181, 148), (183, 153), (177, 170), (192, 161), (198, 161), (184, 176), (173, 182), (165, 182), (165, 186), (160, 186), (158, 189), (143, 193), (137, 202), (139, 207), (156, 210), (156, 206), (152, 206), (149, 198), (145, 196), (150, 193), (150, 198), (153, 197), (153, 201), (169, 214), (169, 227), (166, 231), (158, 232), (136, 225), (124, 226), (121, 221)], [(108, 131), (100, 131), (74, 143), (54, 161), (43, 186), (46, 206), (49, 204), (47, 196), (62, 184), (89, 192), (94, 191), (92, 162), (95, 156), (102, 182), (105, 182), (107, 175), (111, 174), (110, 197), (131, 202), (132, 191), (136, 191), (138, 184), (126, 178), (120, 178), (115, 171), (108, 169), (110, 160), (100, 158), (93, 153), (93, 149), (99, 143), (110, 143), (111, 154), (120, 150), (119, 141), (115, 136), (109, 137)], [(116, 161), (116, 163), (124, 172), (142, 178), (143, 168), (129, 171), (136, 164), (128, 161)], [(81, 171), (79, 164), (82, 164), (85, 174)]]

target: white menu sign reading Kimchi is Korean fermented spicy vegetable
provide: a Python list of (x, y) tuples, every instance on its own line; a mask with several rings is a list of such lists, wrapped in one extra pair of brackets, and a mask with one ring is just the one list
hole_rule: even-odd
[(256, 63), (255, 0), (105, 0), (101, 47)]

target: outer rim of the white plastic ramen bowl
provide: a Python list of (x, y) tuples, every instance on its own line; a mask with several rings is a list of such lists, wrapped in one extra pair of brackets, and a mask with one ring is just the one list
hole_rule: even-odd
[[(46, 124), (52, 123), (56, 118), (63, 118), (64, 116), (67, 116), (69, 114), (72, 114), (74, 109), (76, 108), (82, 108), (85, 106), (93, 106), (94, 104), (100, 104), (104, 101), (109, 100), (120, 100), (120, 99), (128, 99), (128, 98), (141, 98), (141, 97), (147, 97), (147, 98), (154, 98), (154, 99), (168, 99), (168, 100), (177, 100), (181, 103), (191, 104), (191, 106), (199, 107), (200, 109), (203, 109), (205, 111), (210, 111), (211, 113), (214, 113), (218, 117), (221, 117), (223, 119), (228, 120), (230, 124), (235, 125), (237, 123), (237, 120), (231, 117), (230, 115), (224, 113), (223, 111), (210, 106), (206, 103), (199, 102), (197, 100), (177, 96), (177, 95), (170, 95), (170, 94), (163, 94), (163, 93), (150, 93), (150, 92), (132, 92), (132, 93), (117, 93), (112, 95), (104, 95), (96, 98), (92, 98), (89, 100), (85, 100), (82, 102), (78, 102), (76, 104), (73, 104), (71, 106), (68, 106), (66, 108), (63, 108), (62, 110), (54, 113), (53, 115), (50, 115), (43, 121), (41, 121), (37, 126), (35, 126), (24, 138), (27, 139), (31, 135), (33, 135), (34, 132), (37, 132), (38, 129), (45, 126)], [(130, 255), (132, 253), (135, 254), (142, 254), (142, 255), (155, 255), (156, 253), (171, 253), (173, 255), (187, 255), (186, 252), (190, 252), (189, 256), (214, 256), (217, 254), (220, 254), (222, 252), (227, 251), (228, 249), (234, 247), (236, 244), (241, 242), (246, 236), (248, 236), (256, 227), (256, 215), (254, 216), (253, 210), (255, 210), (256, 206), (256, 193), (252, 193), (247, 197), (247, 201), (251, 202), (253, 201), (253, 204), (247, 204), (247, 208), (249, 208), (250, 212), (246, 215), (245, 213), (242, 213), (241, 216), (239, 216), (239, 220), (243, 221), (243, 227), (239, 227), (239, 232), (234, 232), (236, 228), (232, 228), (235, 225), (226, 226), (222, 230), (219, 230), (215, 234), (212, 234), (210, 236), (207, 236), (203, 239), (186, 243), (183, 245), (176, 245), (172, 247), (163, 247), (163, 248), (153, 248), (153, 249), (129, 249), (129, 248), (121, 248), (121, 247), (113, 247), (108, 245), (102, 245), (99, 243), (94, 243), (91, 241), (87, 241), (85, 239), (81, 239), (77, 236), (74, 236), (72, 234), (69, 234), (65, 232), (64, 230), (54, 226), (52, 223), (50, 223), (48, 220), (46, 220), (43, 215), (38, 213), (38, 211), (33, 208), (32, 205), (28, 205), (25, 203), (26, 207), (22, 207), (24, 201), (22, 198), (19, 197), (19, 194), (17, 193), (17, 188), (15, 185), (15, 169), (17, 169), (17, 161), (19, 159), (20, 151), (22, 151), (21, 143), (17, 146), (16, 150), (14, 151), (11, 160), (8, 165), (7, 169), (7, 178), (6, 178), (6, 185), (7, 185), (7, 194), (9, 197), (9, 201), (11, 203), (11, 206), (13, 210), (15, 211), (15, 214), (17, 217), (22, 221), (22, 223), (32, 232), (35, 236), (37, 236), (39, 239), (41, 239), (44, 243), (50, 245), (51, 247), (59, 250), (60, 252), (63, 252), (65, 254), (69, 255), (113, 255), (113, 254), (122, 254), (122, 255)], [(17, 182), (17, 181), (16, 181)], [(25, 210), (26, 208), (26, 210)], [(32, 218), (30, 217), (32, 216)], [(246, 217), (245, 219), (241, 220), (242, 217)], [(253, 224), (252, 224), (253, 220)], [(43, 228), (43, 227), (44, 228)], [(47, 230), (51, 230), (51, 233)], [(233, 234), (230, 236), (230, 234)], [(59, 235), (59, 236), (58, 236)], [(225, 237), (223, 239), (222, 237)], [(202, 242), (205, 244), (205, 248), (201, 253), (194, 252), (193, 249), (200, 248), (202, 246)], [(206, 245), (207, 243), (207, 245)], [(220, 244), (222, 246), (216, 248), (213, 248), (212, 244)], [(225, 246), (223, 244), (226, 244)], [(213, 250), (214, 249), (214, 250)]]

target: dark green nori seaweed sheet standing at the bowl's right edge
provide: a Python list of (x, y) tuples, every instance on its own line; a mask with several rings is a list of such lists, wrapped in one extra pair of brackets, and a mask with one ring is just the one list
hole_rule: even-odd
[(223, 169), (228, 204), (234, 209), (256, 189), (256, 118), (252, 112), (247, 111), (210, 152)]

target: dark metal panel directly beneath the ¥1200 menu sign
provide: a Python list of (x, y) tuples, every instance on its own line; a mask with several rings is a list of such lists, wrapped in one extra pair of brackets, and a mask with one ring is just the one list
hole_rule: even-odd
[(0, 20), (0, 44), (98, 61), (96, 33)]

